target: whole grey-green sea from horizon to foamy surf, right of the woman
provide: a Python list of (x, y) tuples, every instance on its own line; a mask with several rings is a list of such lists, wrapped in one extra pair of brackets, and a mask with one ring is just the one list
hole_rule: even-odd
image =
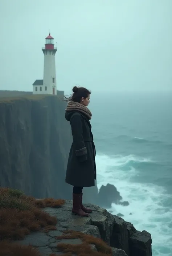
[(92, 92), (88, 107), (98, 188), (130, 203), (107, 210), (150, 232), (153, 256), (172, 256), (172, 92)]

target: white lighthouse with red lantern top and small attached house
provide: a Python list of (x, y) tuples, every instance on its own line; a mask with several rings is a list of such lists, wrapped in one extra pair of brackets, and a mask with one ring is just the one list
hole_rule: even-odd
[(54, 38), (50, 35), (45, 38), (44, 53), (44, 79), (36, 80), (33, 83), (33, 94), (57, 94), (56, 87), (56, 64), (55, 54), (57, 48), (54, 47)]

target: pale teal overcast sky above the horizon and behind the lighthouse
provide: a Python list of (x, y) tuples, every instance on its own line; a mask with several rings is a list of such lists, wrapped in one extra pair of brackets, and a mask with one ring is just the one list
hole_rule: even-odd
[(54, 37), (57, 89), (172, 91), (172, 0), (0, 0), (0, 89), (43, 79)]

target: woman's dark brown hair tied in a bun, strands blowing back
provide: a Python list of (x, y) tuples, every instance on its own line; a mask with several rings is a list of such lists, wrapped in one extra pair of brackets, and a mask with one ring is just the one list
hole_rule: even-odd
[(64, 101), (75, 101), (80, 102), (82, 97), (87, 98), (89, 94), (91, 94), (91, 91), (87, 90), (84, 87), (77, 87), (76, 85), (72, 89), (73, 94), (69, 98), (65, 97)]

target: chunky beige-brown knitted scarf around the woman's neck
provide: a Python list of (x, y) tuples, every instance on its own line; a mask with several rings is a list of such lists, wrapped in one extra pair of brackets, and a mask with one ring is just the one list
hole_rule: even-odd
[(75, 110), (85, 114), (89, 118), (89, 120), (91, 119), (91, 116), (92, 116), (91, 111), (86, 106), (82, 105), (79, 102), (69, 101), (67, 103), (67, 107), (66, 107), (65, 111), (70, 112), (70, 111), (75, 111)]

